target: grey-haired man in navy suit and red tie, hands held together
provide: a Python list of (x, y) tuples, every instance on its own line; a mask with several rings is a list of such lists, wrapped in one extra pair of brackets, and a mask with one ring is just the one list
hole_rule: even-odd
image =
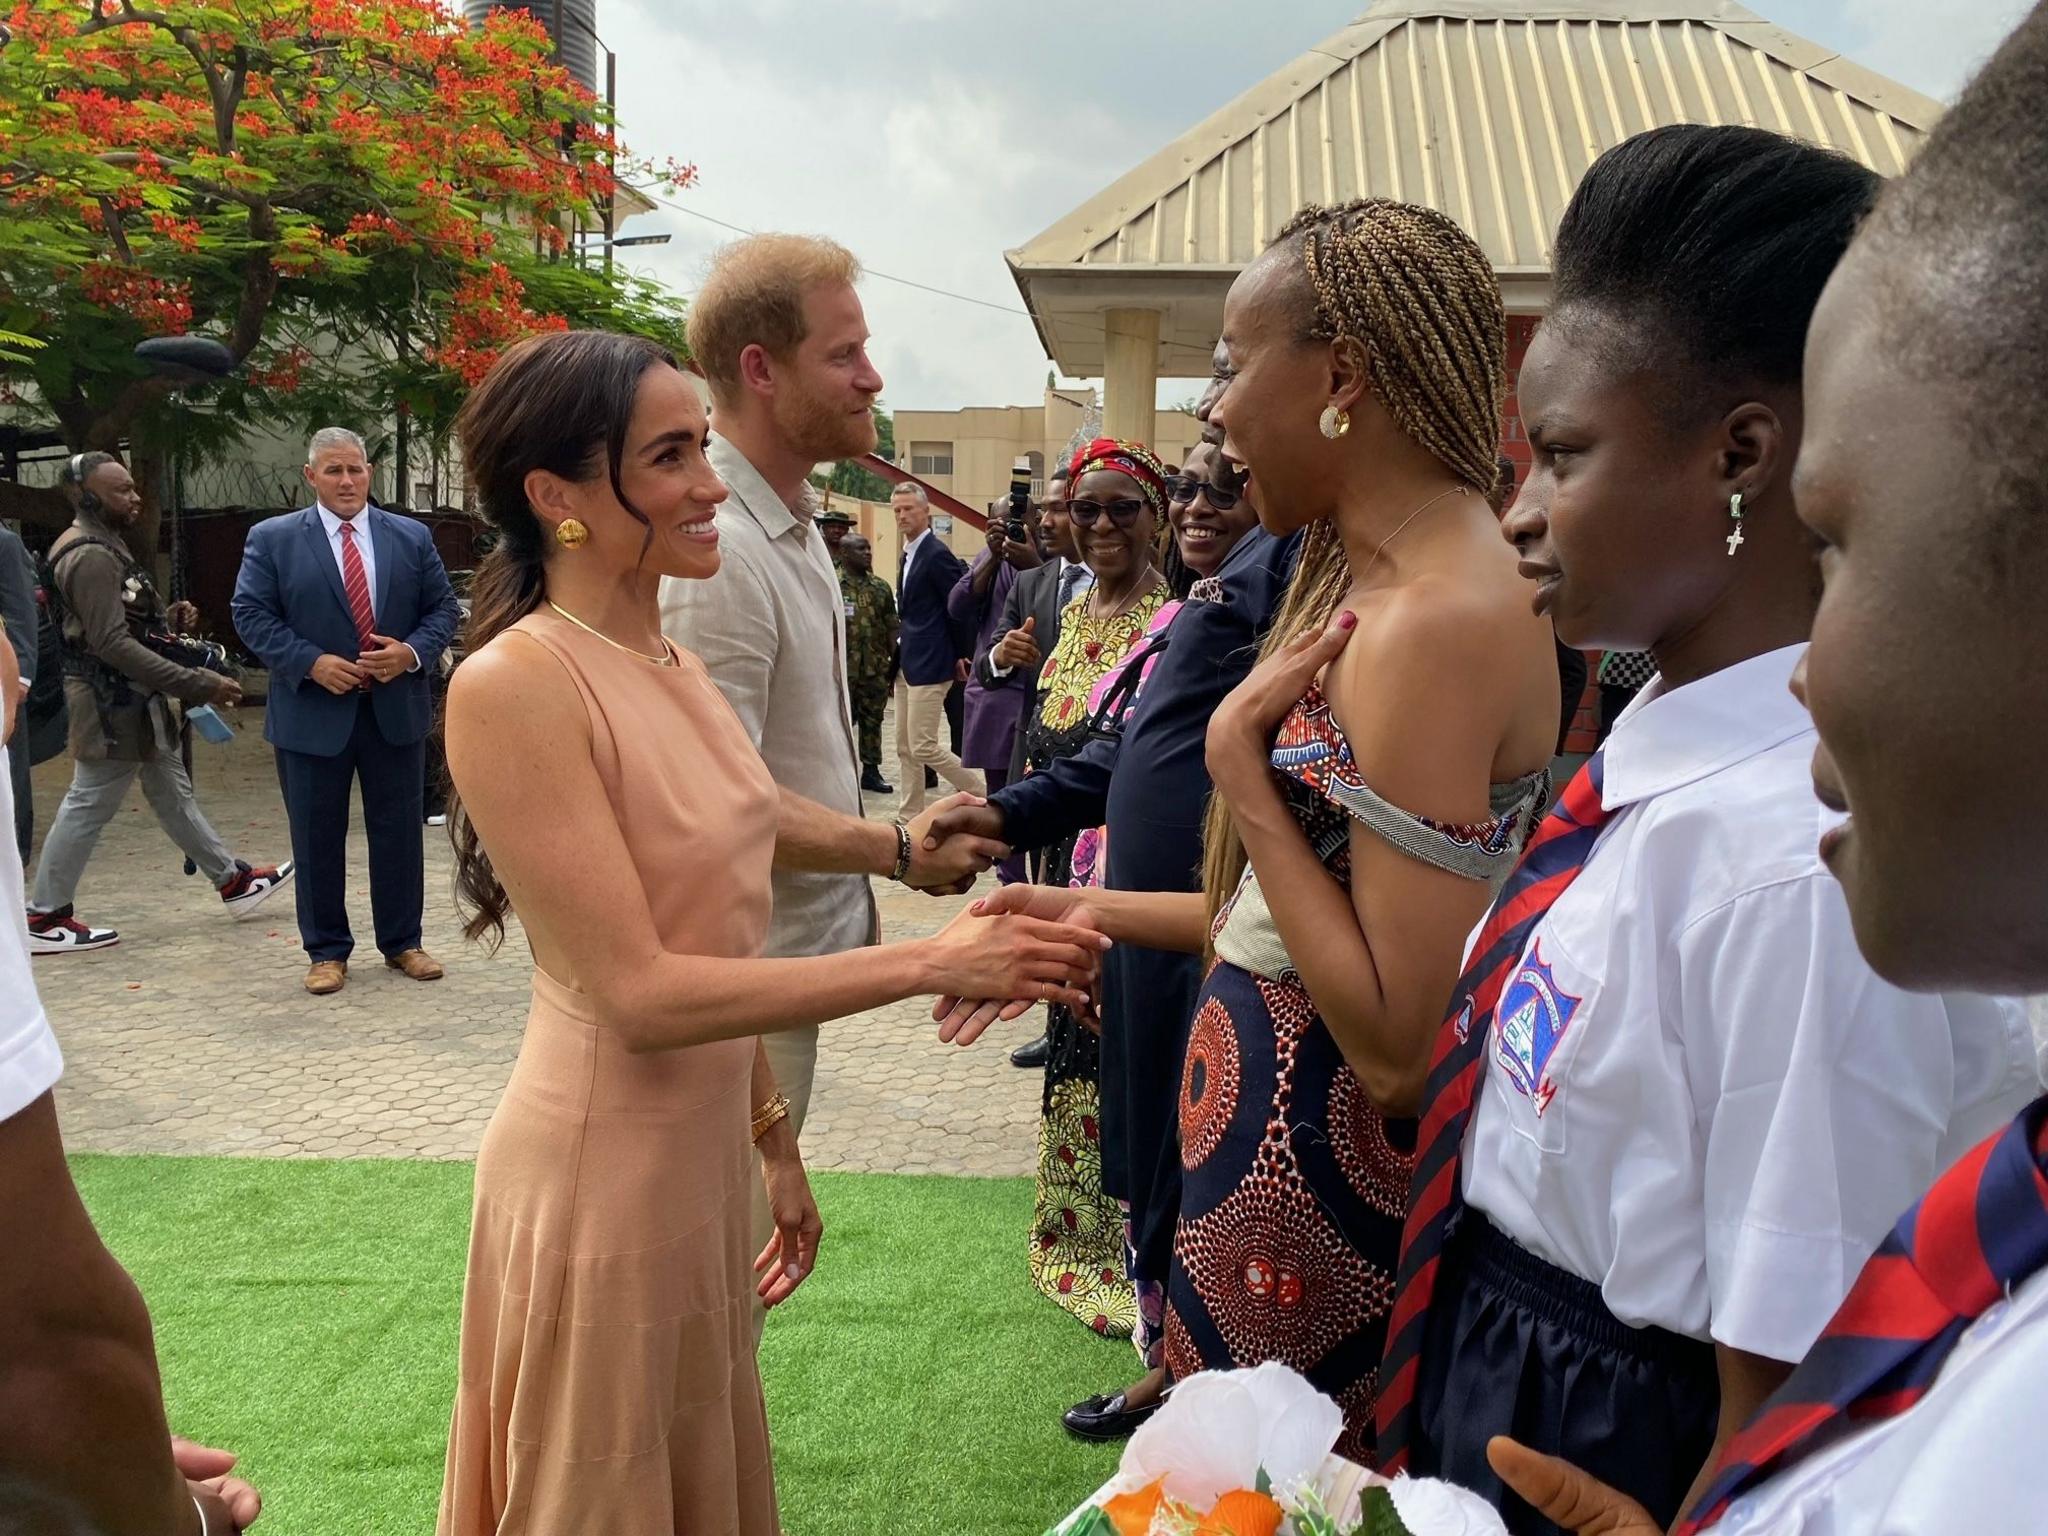
[(299, 866), (305, 989), (340, 991), (348, 930), (348, 793), (362, 784), (371, 911), (385, 965), (438, 981), (420, 948), (426, 856), (420, 846), (430, 678), (461, 608), (424, 524), (371, 506), (362, 438), (313, 434), (305, 483), (315, 504), (258, 522), (242, 549), (236, 631), (270, 668), (264, 739), (291, 817)]

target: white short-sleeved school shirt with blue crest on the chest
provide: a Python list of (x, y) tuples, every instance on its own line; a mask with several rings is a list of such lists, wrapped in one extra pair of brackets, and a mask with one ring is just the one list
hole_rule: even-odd
[[(1651, 682), (1616, 723), (1616, 815), (1503, 991), (1464, 1145), (1466, 1202), (1620, 1321), (1774, 1360), (2038, 1092), (2017, 1001), (1898, 991), (1858, 952), (1802, 649)], [(1534, 1038), (1501, 1028), (1518, 985)]]

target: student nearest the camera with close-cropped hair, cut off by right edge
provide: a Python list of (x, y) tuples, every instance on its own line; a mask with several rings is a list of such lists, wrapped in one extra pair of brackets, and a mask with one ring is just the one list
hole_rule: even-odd
[[(1829, 283), (1806, 348), (1798, 514), (1827, 594), (1798, 680), (1823, 848), (1872, 967), (2048, 989), (2048, 6), (1962, 92)], [(1845, 1020), (1866, 1071), (1909, 1069)], [(1942, 1176), (1681, 1536), (1982, 1536), (2048, 1520), (2048, 1098)], [(1651, 1511), (1501, 1442), (1575, 1532)]]

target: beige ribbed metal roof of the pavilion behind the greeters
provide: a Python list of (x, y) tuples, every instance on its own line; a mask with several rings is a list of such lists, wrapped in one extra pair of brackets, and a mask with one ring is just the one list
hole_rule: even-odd
[(1726, 0), (1378, 0), (1020, 250), (1047, 356), (1104, 371), (1104, 309), (1159, 309), (1159, 373), (1204, 377), (1223, 295), (1303, 203), (1442, 209), (1507, 307), (1550, 297), (1585, 168), (1667, 123), (1751, 123), (1907, 168), (1942, 104)]

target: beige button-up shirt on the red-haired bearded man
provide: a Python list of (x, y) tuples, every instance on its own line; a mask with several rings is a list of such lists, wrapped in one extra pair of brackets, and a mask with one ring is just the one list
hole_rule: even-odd
[[(725, 438), (711, 467), (731, 487), (719, 506), (719, 573), (662, 580), (662, 629), (719, 684), (784, 788), (860, 815), (860, 752), (846, 696), (846, 608), (809, 492), (791, 510)], [(864, 874), (774, 872), (766, 954), (838, 954), (874, 942)]]

